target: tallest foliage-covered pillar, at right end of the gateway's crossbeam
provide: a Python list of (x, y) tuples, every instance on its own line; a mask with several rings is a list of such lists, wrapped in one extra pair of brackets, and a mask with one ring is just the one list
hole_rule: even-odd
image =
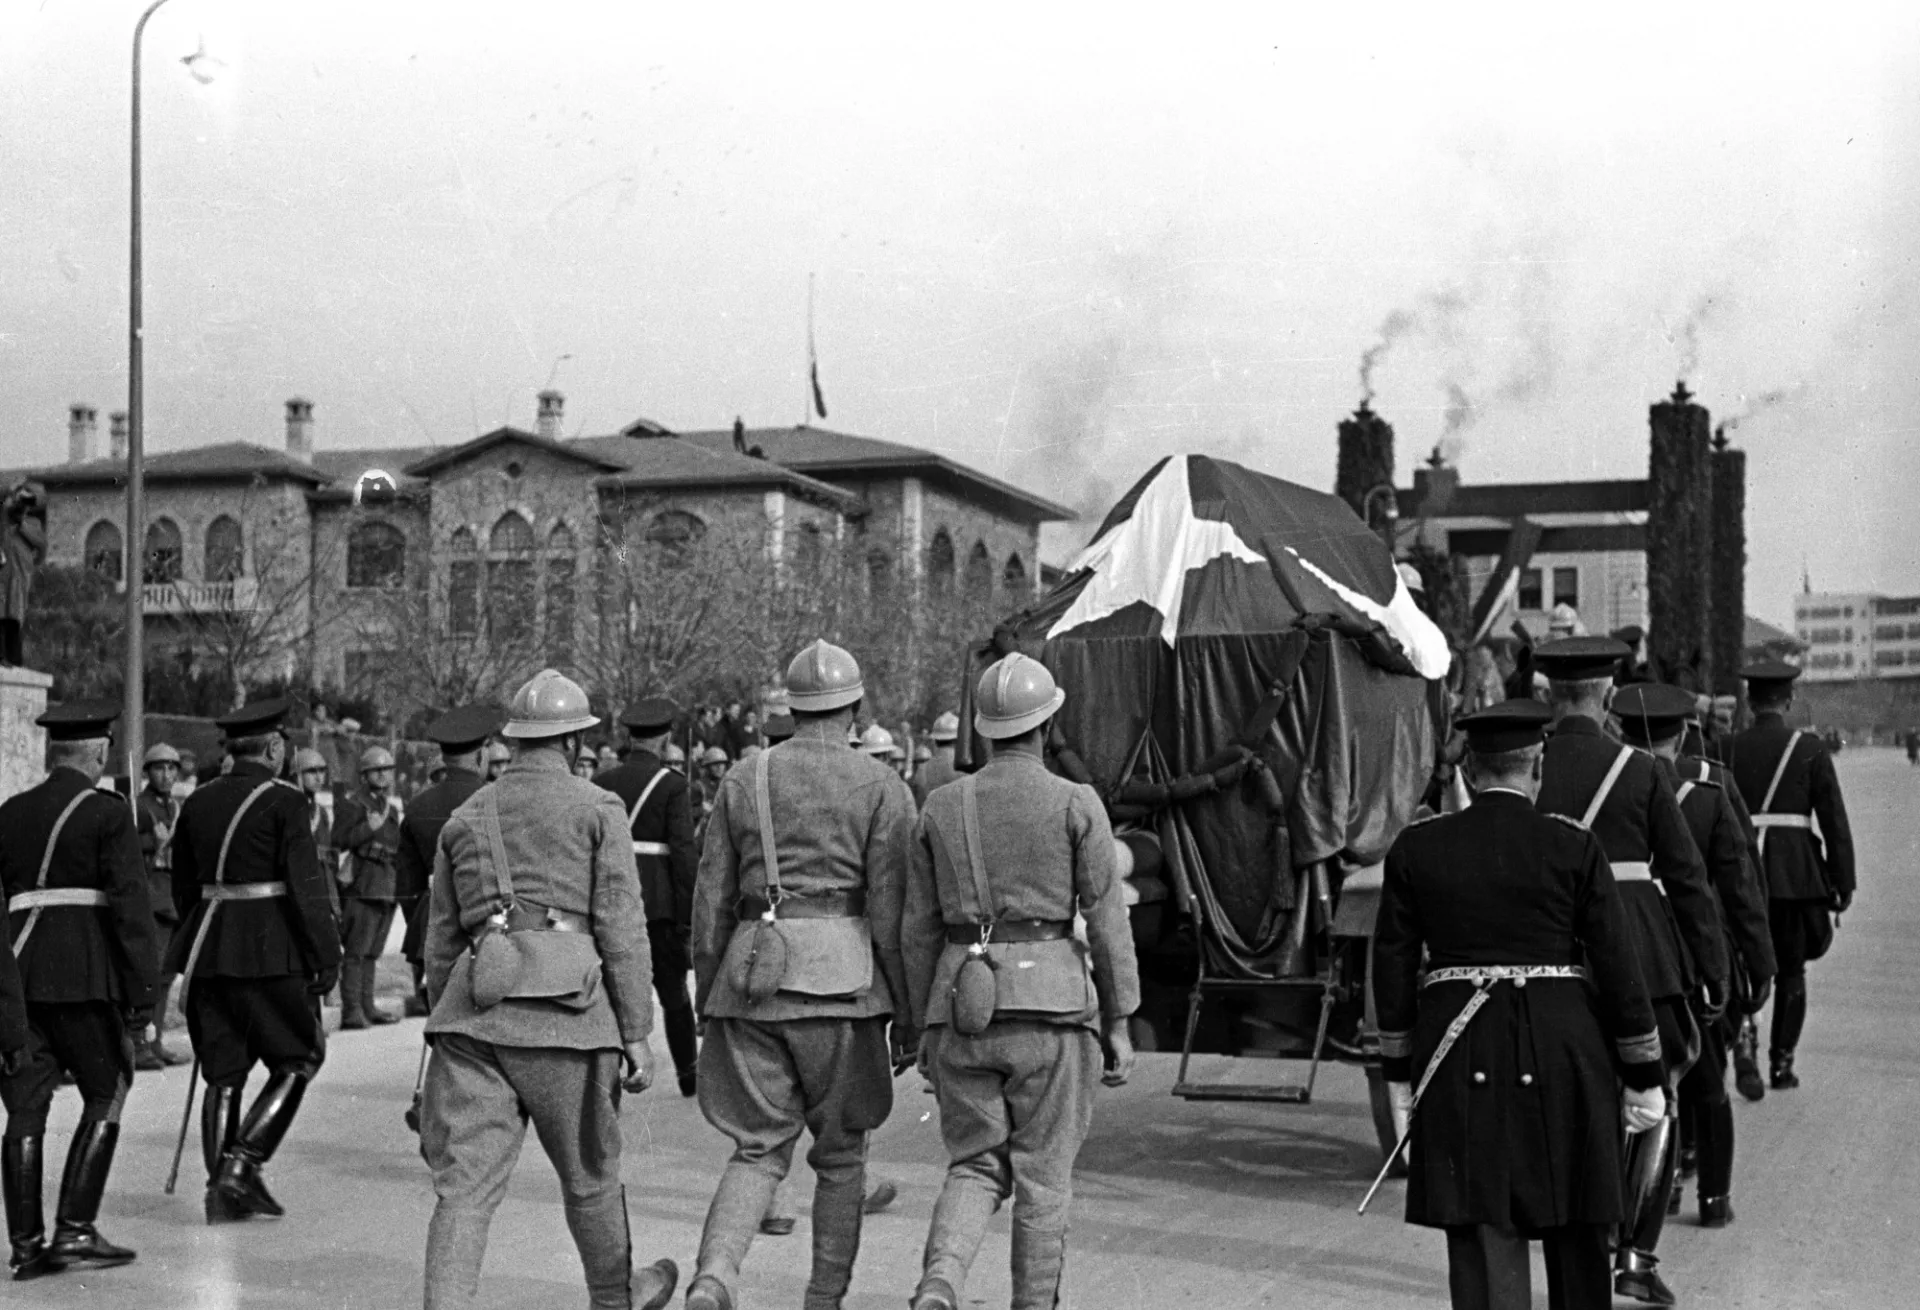
[(1647, 411), (1647, 663), (1692, 691), (1713, 688), (1713, 480), (1709, 417), (1686, 382)]

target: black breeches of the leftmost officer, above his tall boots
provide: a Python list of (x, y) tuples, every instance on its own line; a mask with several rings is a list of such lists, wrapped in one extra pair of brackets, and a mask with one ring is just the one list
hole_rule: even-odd
[(132, 1087), (132, 1037), (108, 1001), (29, 1001), (27, 1051), (0, 1080), (6, 1135), (38, 1137), (60, 1091), (61, 1072), (81, 1093), (81, 1120), (117, 1124)]

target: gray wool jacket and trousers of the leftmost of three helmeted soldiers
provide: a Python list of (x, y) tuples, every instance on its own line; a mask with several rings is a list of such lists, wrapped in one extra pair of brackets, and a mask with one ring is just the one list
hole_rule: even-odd
[[(555, 924), (543, 932), (591, 934), (601, 978), (586, 1005), (474, 1001), (468, 953), (497, 905), (490, 797), (520, 914)], [(620, 797), (574, 778), (557, 751), (534, 751), (453, 811), (434, 855), (426, 995), (434, 1053), (420, 1154), (438, 1197), (426, 1233), (428, 1310), (468, 1304), (478, 1289), (488, 1224), (528, 1122), (561, 1176), (589, 1304), (626, 1306), (620, 1047), (653, 1030), (653, 960)]]

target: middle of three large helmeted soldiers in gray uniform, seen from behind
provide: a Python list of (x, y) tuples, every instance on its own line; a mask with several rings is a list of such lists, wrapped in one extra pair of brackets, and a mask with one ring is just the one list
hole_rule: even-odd
[(914, 797), (847, 749), (860, 665), (814, 642), (787, 667), (795, 736), (735, 766), (714, 797), (693, 887), (701, 1112), (733, 1139), (707, 1210), (687, 1310), (732, 1310), (733, 1283), (803, 1129), (814, 1166), (806, 1310), (841, 1304), (860, 1250), (866, 1141), (893, 1110), (910, 1033), (900, 884)]

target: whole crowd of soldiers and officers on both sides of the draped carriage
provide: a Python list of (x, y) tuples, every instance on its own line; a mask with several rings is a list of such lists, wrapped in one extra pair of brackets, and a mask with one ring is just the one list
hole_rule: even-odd
[[(1705, 1227), (1734, 1222), (1728, 1066), (1747, 1099), (1799, 1085), (1807, 966), (1855, 889), (1832, 753), (1786, 722), (1797, 672), (1747, 668), (1736, 732), (1640, 676), (1624, 642), (1571, 636), (1528, 651), (1521, 695), (1459, 720), (1434, 813), (1388, 855), (1375, 937), (1407, 1220), (1446, 1231), (1455, 1306), (1532, 1304), (1530, 1241), (1553, 1306), (1674, 1304), (1659, 1241), (1680, 1179)], [(175, 982), (205, 1218), (280, 1216), (265, 1166), (324, 1062), (321, 999), (338, 991), (349, 1031), (399, 1018), (372, 997), (399, 916), (430, 1043), (409, 1110), (436, 1191), (428, 1308), (476, 1295), (528, 1124), (591, 1304), (678, 1291), (674, 1260), (636, 1262), (620, 1183), (655, 999), (678, 1091), (733, 1143), (687, 1306), (730, 1310), (755, 1237), (791, 1231), (780, 1185), (803, 1133), (804, 1304), (843, 1302), (862, 1214), (891, 1193), (868, 1139), (908, 1066), (948, 1152), (912, 1308), (964, 1304), (1008, 1199), (1014, 1306), (1058, 1304), (1092, 1089), (1127, 1080), (1139, 1007), (1106, 811), (1044, 751), (1068, 691), (1025, 655), (989, 667), (972, 728), (991, 759), (960, 774), (954, 715), (920, 761), (858, 730), (845, 649), (808, 645), (785, 690), (764, 722), (693, 716), (714, 740), (691, 757), (687, 715), (643, 699), (603, 751), (582, 688), (543, 670), (507, 711), (438, 718), (442, 763), (405, 799), (388, 749), (330, 788), (290, 747), (288, 705), (255, 703), (219, 720), (230, 766), (180, 799), (182, 761), (156, 745), (131, 809), (96, 786), (113, 709), (50, 711), (48, 780), (0, 807), (13, 1277), (134, 1258), (96, 1218), (134, 1068), (182, 1060), (156, 1024)], [(83, 1114), (48, 1233), (61, 1080)]]

